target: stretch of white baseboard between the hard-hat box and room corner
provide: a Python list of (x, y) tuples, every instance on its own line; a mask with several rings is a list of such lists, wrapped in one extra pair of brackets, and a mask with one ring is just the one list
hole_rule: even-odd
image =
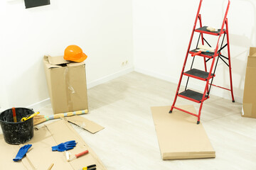
[(117, 77), (120, 77), (120, 76), (122, 76), (124, 74), (127, 74), (129, 72), (132, 72), (132, 71), (134, 71), (134, 67), (128, 67), (127, 69), (122, 69), (119, 72), (115, 72), (114, 74), (110, 74), (110, 75), (107, 75), (106, 77), (96, 79), (95, 81), (87, 83), (87, 89), (90, 89), (90, 88), (92, 88), (94, 86), (97, 86), (99, 84), (103, 84), (107, 81), (110, 81), (112, 79), (115, 79)]

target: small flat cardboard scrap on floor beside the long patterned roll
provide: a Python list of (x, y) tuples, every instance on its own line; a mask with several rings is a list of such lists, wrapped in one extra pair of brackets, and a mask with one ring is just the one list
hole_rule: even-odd
[(83, 128), (91, 133), (99, 132), (100, 130), (104, 129), (101, 125), (98, 125), (97, 123), (87, 120), (79, 115), (65, 117), (65, 120), (68, 120), (68, 122), (78, 125), (80, 128)]

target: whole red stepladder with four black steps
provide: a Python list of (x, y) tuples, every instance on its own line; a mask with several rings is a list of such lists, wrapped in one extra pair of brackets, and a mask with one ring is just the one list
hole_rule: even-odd
[[(202, 1), (203, 0), (200, 0), (199, 6), (198, 6), (198, 11), (196, 13), (196, 21), (193, 25), (193, 31), (191, 33), (191, 39), (189, 41), (188, 50), (186, 52), (186, 57), (185, 57), (185, 60), (184, 60), (184, 63), (183, 63), (183, 67), (182, 67), (182, 71), (181, 71), (181, 77), (178, 81), (178, 87), (177, 87), (176, 94), (175, 94), (175, 97), (174, 97), (174, 103), (172, 104), (171, 110), (169, 111), (169, 113), (172, 113), (172, 111), (175, 108), (179, 111), (183, 111), (185, 113), (194, 115), (198, 118), (197, 124), (200, 123), (200, 116), (201, 116), (201, 110), (202, 110), (202, 107), (203, 107), (203, 101), (206, 101), (206, 99), (209, 98), (211, 86), (216, 86), (215, 84), (213, 84), (213, 78), (215, 77), (215, 71), (216, 71), (216, 67), (217, 67), (219, 59), (222, 60), (229, 67), (230, 89), (224, 88), (222, 86), (217, 86), (217, 87), (230, 91), (231, 96), (232, 96), (232, 100), (233, 100), (233, 102), (235, 102), (234, 95), (233, 95), (233, 85), (232, 85), (231, 62), (230, 62), (230, 42), (229, 42), (228, 18), (227, 18), (228, 9), (229, 9), (229, 6), (230, 6), (230, 0), (228, 0), (228, 6), (227, 6), (226, 11), (225, 11), (225, 16), (223, 18), (222, 26), (221, 26), (220, 29), (215, 30), (215, 31), (208, 30), (207, 26), (202, 26), (202, 19), (201, 19), (201, 14), (200, 14)], [(199, 21), (199, 24), (200, 24), (200, 28), (196, 28), (196, 24), (197, 24), (198, 21)], [(211, 46), (206, 41), (206, 39), (203, 37), (203, 35), (208, 34), (208, 35), (218, 36), (217, 44), (216, 44), (215, 48), (213, 48), (214, 52), (199, 49), (198, 48), (198, 42), (197, 42), (197, 45), (196, 45), (196, 49), (191, 50), (191, 42), (193, 40), (193, 36), (194, 36), (195, 32), (199, 33), (198, 42), (201, 39), (202, 45), (204, 45), (204, 42), (206, 42), (209, 47), (211, 47)], [(222, 41), (221, 41), (220, 39), (221, 39), (222, 35), (223, 35), (223, 38), (222, 38)], [(223, 42), (224, 42), (225, 38), (226, 38), (227, 43), (225, 45), (223, 45)], [(219, 42), (221, 42), (220, 47), (219, 47)], [(221, 53), (221, 51), (225, 47), (228, 48), (228, 57), (225, 57)], [(190, 69), (188, 71), (185, 71), (186, 62), (188, 60), (188, 54), (191, 54), (191, 56), (193, 57), (193, 60), (192, 60)], [(202, 71), (200, 69), (193, 68), (193, 62), (194, 62), (196, 56), (203, 57), (203, 62), (204, 62), (204, 67), (205, 67), (204, 71)], [(217, 59), (217, 61), (215, 62), (216, 59)], [(210, 69), (207, 70), (206, 62), (208, 62), (210, 60), (211, 60)], [(186, 87), (185, 87), (185, 91), (182, 91), (180, 93), (179, 90), (180, 90), (181, 81), (183, 79), (183, 76), (187, 77)], [(193, 91), (191, 89), (188, 89), (188, 80), (189, 80), (190, 77), (191, 77), (191, 79), (193, 78), (193, 79), (199, 79), (201, 81), (206, 81), (206, 86), (204, 88), (203, 93), (199, 93), (197, 91)], [(191, 113), (189, 111), (183, 110), (182, 108), (176, 107), (175, 103), (176, 103), (176, 100), (177, 100), (178, 97), (185, 98), (189, 101), (194, 101), (196, 103), (200, 103), (198, 114)]]

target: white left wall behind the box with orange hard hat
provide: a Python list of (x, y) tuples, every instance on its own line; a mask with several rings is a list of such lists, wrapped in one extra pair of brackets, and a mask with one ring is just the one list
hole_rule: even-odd
[(132, 70), (132, 0), (50, 0), (27, 9), (23, 0), (2, 0), (0, 16), (2, 109), (47, 99), (43, 55), (63, 55), (68, 45), (88, 55), (88, 87)]

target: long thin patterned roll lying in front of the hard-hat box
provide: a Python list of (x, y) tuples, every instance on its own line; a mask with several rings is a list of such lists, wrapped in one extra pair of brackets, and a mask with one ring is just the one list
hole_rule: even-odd
[(67, 112), (67, 113), (58, 113), (54, 115), (36, 115), (33, 118), (33, 125), (38, 125), (40, 123), (46, 122), (48, 120), (58, 119), (58, 118), (64, 118), (72, 115), (82, 115), (88, 113), (88, 110), (82, 110), (82, 111), (74, 111), (74, 112)]

